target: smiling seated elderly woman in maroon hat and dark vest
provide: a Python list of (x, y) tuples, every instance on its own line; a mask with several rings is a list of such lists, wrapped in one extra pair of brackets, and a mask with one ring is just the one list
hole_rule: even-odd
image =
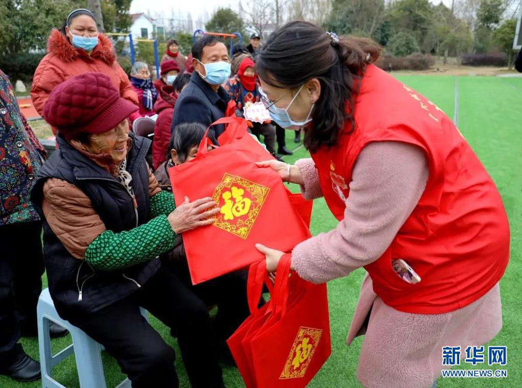
[(175, 326), (192, 386), (220, 387), (207, 307), (158, 258), (219, 209), (211, 198), (176, 208), (160, 190), (145, 161), (150, 141), (128, 130), (136, 109), (101, 73), (68, 79), (45, 105), (60, 151), (31, 199), (43, 219), (49, 290), (58, 314), (101, 343), (133, 387), (178, 385), (174, 350), (140, 306)]

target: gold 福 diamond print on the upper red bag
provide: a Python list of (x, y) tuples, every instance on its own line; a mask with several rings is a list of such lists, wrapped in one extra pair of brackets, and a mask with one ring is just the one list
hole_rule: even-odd
[(212, 225), (246, 240), (269, 192), (266, 186), (226, 172), (212, 195), (221, 207)]

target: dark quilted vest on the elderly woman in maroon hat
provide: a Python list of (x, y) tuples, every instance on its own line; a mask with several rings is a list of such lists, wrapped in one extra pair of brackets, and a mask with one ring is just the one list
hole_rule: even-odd
[(118, 233), (145, 224), (150, 218), (149, 172), (145, 161), (150, 140), (129, 136), (133, 141), (127, 156), (127, 170), (133, 178), (136, 211), (127, 189), (60, 134), (57, 136), (60, 148), (44, 164), (31, 191), (31, 199), (44, 221), (44, 261), (49, 291), (56, 311), (63, 319), (98, 311), (131, 295), (161, 265), (156, 259), (119, 271), (95, 271), (67, 251), (45, 221), (42, 211), (43, 184), (50, 178), (58, 178), (74, 184), (89, 197), (106, 229)]

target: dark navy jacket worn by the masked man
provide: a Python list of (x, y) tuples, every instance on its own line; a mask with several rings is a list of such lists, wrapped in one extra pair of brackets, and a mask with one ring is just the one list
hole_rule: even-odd
[[(184, 123), (200, 123), (208, 127), (224, 117), (230, 100), (223, 87), (220, 86), (216, 93), (197, 72), (192, 73), (191, 81), (176, 100), (171, 131)], [(217, 138), (224, 132), (224, 125), (215, 125), (210, 132)]]

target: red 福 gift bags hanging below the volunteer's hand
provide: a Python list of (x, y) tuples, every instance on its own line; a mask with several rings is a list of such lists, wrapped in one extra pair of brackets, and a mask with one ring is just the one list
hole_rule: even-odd
[(289, 273), (284, 255), (264, 315), (253, 315), (258, 324), (246, 334), (240, 326), (229, 339), (247, 388), (305, 387), (331, 354), (326, 285)]

